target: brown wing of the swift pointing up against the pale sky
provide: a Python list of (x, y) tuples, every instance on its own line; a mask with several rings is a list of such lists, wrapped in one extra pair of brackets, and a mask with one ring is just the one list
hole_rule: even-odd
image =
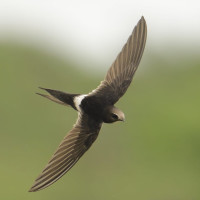
[(114, 104), (124, 95), (140, 63), (147, 37), (144, 17), (133, 29), (127, 43), (108, 70), (105, 79), (90, 93)]

